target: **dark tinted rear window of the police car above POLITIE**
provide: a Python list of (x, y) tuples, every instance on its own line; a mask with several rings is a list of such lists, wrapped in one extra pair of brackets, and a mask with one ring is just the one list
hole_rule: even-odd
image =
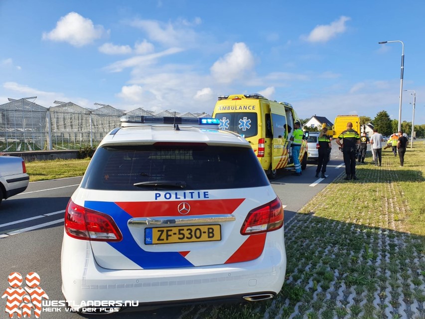
[[(269, 185), (251, 148), (148, 145), (99, 148), (81, 186), (101, 190), (151, 191), (136, 183), (182, 183), (184, 189), (230, 189)], [(183, 187), (182, 187), (183, 188)]]

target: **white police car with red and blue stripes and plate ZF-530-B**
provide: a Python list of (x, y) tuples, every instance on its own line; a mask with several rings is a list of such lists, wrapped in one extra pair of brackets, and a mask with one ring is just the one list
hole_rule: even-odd
[(65, 212), (74, 310), (279, 293), (282, 203), (250, 144), (216, 121), (125, 116), (103, 139)]

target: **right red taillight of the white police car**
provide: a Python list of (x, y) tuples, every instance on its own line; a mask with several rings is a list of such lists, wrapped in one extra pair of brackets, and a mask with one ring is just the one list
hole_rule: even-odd
[(257, 207), (248, 213), (241, 228), (242, 235), (265, 233), (283, 226), (283, 207), (276, 197), (270, 203)]

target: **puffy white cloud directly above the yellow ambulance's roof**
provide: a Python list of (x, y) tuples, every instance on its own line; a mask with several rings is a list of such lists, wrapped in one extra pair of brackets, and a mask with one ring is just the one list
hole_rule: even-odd
[(232, 52), (221, 57), (211, 67), (211, 74), (220, 83), (243, 78), (254, 67), (254, 56), (245, 43), (233, 45)]

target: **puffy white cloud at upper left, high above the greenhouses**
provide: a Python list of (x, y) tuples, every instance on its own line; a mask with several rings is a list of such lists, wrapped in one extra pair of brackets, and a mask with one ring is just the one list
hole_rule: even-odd
[(94, 25), (92, 20), (77, 12), (62, 16), (56, 27), (50, 32), (43, 32), (43, 40), (68, 42), (76, 47), (93, 42), (105, 34), (102, 25)]

